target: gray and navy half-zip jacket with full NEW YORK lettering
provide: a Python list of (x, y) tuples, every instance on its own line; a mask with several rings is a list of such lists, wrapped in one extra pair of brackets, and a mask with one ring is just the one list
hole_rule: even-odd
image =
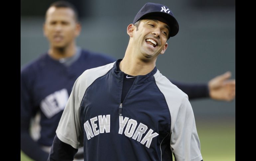
[[(120, 60), (119, 60), (120, 61)], [(188, 96), (155, 67), (136, 76), (121, 104), (122, 71), (113, 62), (88, 69), (74, 83), (56, 130), (85, 161), (200, 161)]]

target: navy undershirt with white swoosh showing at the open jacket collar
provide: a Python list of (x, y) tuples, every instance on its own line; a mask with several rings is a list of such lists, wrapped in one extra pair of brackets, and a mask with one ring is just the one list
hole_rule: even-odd
[[(121, 71), (120, 70), (120, 62), (121, 61), (117, 61), (117, 71)], [(127, 95), (128, 91), (130, 90), (134, 80), (135, 80), (135, 76), (132, 75), (128, 75), (126, 73), (124, 73), (124, 80), (123, 80), (123, 89), (122, 89), (122, 97), (121, 97), (121, 103), (123, 103), (125, 96)]]

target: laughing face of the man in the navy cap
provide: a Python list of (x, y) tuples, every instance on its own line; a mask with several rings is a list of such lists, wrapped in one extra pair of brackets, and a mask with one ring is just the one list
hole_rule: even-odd
[(159, 20), (141, 20), (134, 30), (134, 40), (146, 58), (156, 58), (167, 49), (168, 26)]

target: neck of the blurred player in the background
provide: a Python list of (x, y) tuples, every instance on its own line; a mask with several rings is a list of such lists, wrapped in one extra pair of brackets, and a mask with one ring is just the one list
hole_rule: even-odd
[(71, 57), (76, 53), (76, 46), (75, 45), (71, 45), (68, 47), (51, 47), (48, 51), (48, 54), (56, 59), (59, 60), (61, 58), (67, 58), (67, 57)]

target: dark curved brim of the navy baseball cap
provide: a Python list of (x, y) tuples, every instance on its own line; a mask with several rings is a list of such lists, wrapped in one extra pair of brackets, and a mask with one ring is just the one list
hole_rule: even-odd
[(172, 15), (165, 13), (165, 12), (156, 11), (156, 12), (147, 13), (147, 14), (143, 15), (142, 17), (140, 17), (138, 20), (145, 19), (149, 16), (154, 16), (154, 17), (159, 16), (159, 17), (164, 18), (167, 21), (167, 25), (170, 27), (170, 34), (169, 34), (168, 39), (170, 37), (174, 37), (179, 32), (179, 24), (178, 24), (177, 20)]

